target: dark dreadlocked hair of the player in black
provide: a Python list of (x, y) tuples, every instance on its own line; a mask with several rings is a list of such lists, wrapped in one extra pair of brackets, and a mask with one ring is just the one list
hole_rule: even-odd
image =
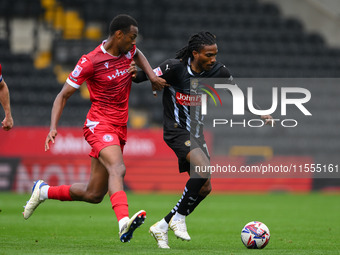
[(200, 51), (205, 45), (216, 43), (216, 36), (210, 32), (199, 32), (190, 37), (188, 45), (176, 52), (176, 58), (187, 62), (189, 58), (194, 58), (192, 52)]

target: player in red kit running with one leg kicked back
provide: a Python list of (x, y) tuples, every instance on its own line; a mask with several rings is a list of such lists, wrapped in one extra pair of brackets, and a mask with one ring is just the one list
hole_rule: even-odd
[(148, 75), (153, 90), (160, 90), (167, 84), (154, 74), (143, 53), (136, 48), (137, 34), (137, 22), (128, 15), (118, 15), (110, 24), (109, 38), (83, 55), (69, 75), (53, 104), (45, 150), (49, 150), (50, 142), (55, 142), (57, 124), (66, 101), (86, 81), (92, 102), (83, 127), (85, 139), (92, 147), (90, 180), (55, 187), (37, 181), (25, 207), (25, 219), (47, 198), (100, 203), (108, 192), (122, 242), (130, 241), (133, 231), (144, 222), (144, 210), (129, 218), (123, 190), (126, 171), (123, 148), (127, 139), (128, 101), (135, 75), (133, 61)]

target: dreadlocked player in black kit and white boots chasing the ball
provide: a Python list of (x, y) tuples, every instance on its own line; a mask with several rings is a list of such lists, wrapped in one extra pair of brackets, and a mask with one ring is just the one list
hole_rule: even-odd
[[(179, 171), (190, 175), (178, 203), (168, 215), (150, 227), (149, 232), (160, 248), (170, 248), (168, 228), (178, 238), (190, 241), (185, 217), (211, 192), (209, 174), (190, 172), (190, 167), (208, 167), (210, 157), (203, 135), (200, 106), (190, 105), (186, 99), (191, 92), (191, 78), (225, 78), (232, 83), (229, 70), (216, 61), (217, 52), (215, 35), (200, 32), (189, 39), (188, 45), (177, 52), (175, 59), (168, 59), (154, 69), (156, 75), (170, 84), (163, 92), (164, 141), (176, 153)], [(135, 82), (144, 80), (147, 80), (145, 74), (138, 72)], [(190, 116), (193, 111), (197, 114)]]

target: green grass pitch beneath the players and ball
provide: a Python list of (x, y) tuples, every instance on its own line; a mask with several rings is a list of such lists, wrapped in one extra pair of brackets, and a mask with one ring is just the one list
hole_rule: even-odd
[[(340, 254), (339, 195), (211, 195), (187, 218), (190, 242), (169, 231), (170, 250), (157, 248), (148, 230), (178, 195), (128, 193), (130, 214), (145, 209), (147, 219), (126, 244), (108, 196), (98, 205), (48, 200), (26, 221), (28, 198), (0, 193), (0, 254)], [(240, 240), (252, 220), (270, 229), (263, 250), (248, 250)]]

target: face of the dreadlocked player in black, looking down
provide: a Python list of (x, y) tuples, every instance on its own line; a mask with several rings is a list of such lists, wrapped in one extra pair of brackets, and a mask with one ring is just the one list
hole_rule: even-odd
[(216, 62), (217, 45), (205, 45), (200, 52), (194, 54), (195, 61), (201, 71), (210, 71)]

